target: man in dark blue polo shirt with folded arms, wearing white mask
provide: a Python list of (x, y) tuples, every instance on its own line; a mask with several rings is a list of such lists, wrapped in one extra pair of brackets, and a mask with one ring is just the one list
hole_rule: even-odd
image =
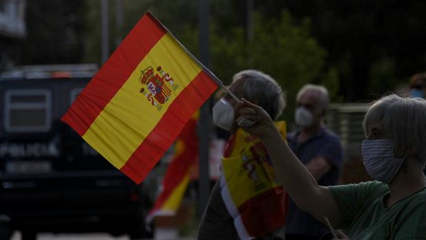
[[(324, 125), (329, 104), (328, 91), (320, 85), (304, 85), (296, 96), (296, 102), (295, 123), (300, 129), (287, 135), (289, 147), (318, 184), (335, 185), (343, 160), (339, 139)], [(287, 240), (330, 239), (330, 235), (324, 235), (328, 232), (327, 226), (300, 210), (292, 200), (286, 220)]]

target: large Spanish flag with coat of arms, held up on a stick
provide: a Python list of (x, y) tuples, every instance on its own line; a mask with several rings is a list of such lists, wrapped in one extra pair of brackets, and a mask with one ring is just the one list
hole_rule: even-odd
[(140, 183), (221, 83), (150, 12), (62, 120)]

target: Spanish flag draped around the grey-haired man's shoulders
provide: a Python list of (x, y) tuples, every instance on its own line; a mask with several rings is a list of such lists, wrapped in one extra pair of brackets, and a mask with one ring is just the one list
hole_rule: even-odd
[[(285, 139), (285, 122), (276, 122), (276, 127)], [(219, 181), (240, 239), (262, 237), (284, 226), (286, 193), (260, 139), (243, 129), (229, 138)]]

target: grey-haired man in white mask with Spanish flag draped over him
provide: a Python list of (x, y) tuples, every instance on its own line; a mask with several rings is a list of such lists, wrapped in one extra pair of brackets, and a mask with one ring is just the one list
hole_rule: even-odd
[[(282, 113), (281, 87), (271, 76), (256, 70), (234, 75), (229, 86), (236, 98), (262, 106), (272, 119)], [(229, 131), (221, 177), (212, 189), (201, 219), (198, 239), (280, 239), (284, 237), (285, 193), (278, 183), (262, 142), (236, 122), (236, 100), (223, 96), (213, 107), (213, 122)], [(285, 135), (284, 122), (276, 126)]]

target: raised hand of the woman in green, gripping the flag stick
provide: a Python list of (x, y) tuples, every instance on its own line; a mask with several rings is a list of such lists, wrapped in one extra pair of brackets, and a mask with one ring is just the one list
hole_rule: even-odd
[(276, 129), (271, 117), (262, 109), (262, 107), (259, 107), (244, 98), (236, 103), (236, 111), (240, 114), (237, 122), (240, 122), (243, 118), (255, 122), (251, 127), (242, 127), (244, 131), (247, 131), (247, 133), (250, 133), (251, 135), (264, 139), (272, 134)]

